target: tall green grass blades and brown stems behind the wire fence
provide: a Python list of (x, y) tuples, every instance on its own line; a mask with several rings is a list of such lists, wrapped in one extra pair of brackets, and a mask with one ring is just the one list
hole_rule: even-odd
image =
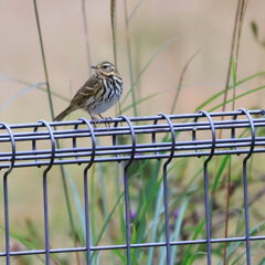
[[(144, 0), (138, 0), (135, 7), (129, 10), (128, 1), (124, 0), (125, 7), (125, 43), (127, 47), (126, 54), (118, 52), (117, 38), (117, 17), (120, 12), (120, 1), (109, 1), (109, 23), (112, 24), (112, 40), (114, 61), (119, 62), (119, 57), (127, 55), (129, 87), (126, 87), (120, 107), (116, 108), (116, 115), (128, 114), (132, 112), (134, 116), (145, 115), (140, 106), (142, 103), (158, 96), (157, 93), (141, 97), (141, 78), (147, 74), (151, 64), (156, 59), (172, 45), (177, 38), (166, 41), (157, 47), (157, 51), (147, 60), (142, 67), (137, 66), (137, 60), (132, 56), (132, 46), (135, 40), (131, 35), (132, 18), (140, 10)], [(76, 2), (77, 4), (77, 2)], [(85, 0), (81, 1), (82, 14), (84, 21), (85, 45), (87, 51), (87, 60), (89, 63), (91, 46), (89, 31), (87, 23), (89, 19), (86, 15)], [(88, 3), (87, 3), (88, 6)], [(49, 71), (46, 65), (45, 45), (42, 41), (41, 21), (38, 17), (36, 0), (34, 0), (34, 10), (36, 14), (36, 24), (39, 26), (39, 40), (42, 51), (42, 66), (45, 73), (45, 84), (31, 84), (17, 78), (9, 78), (11, 82), (20, 83), (23, 89), (19, 92), (8, 102), (3, 103), (2, 108), (15, 100), (21, 95), (30, 96), (33, 89), (40, 89), (47, 94), (51, 117), (54, 117), (53, 98), (60, 98), (67, 102), (68, 97), (60, 95), (50, 86)], [(244, 78), (237, 77), (240, 67), (240, 47), (242, 42), (242, 29), (244, 25), (244, 17), (247, 11), (247, 1), (239, 0), (235, 13), (235, 21), (232, 34), (232, 44), (230, 55), (227, 55), (229, 65), (226, 74), (225, 87), (221, 91), (213, 92), (209, 98), (198, 103), (194, 112), (205, 109), (209, 112), (235, 109), (235, 103), (240, 98), (247, 98), (252, 94), (261, 93), (265, 85), (259, 85), (247, 91), (240, 91), (240, 86), (247, 85), (261, 76), (265, 72), (250, 73)], [(252, 31), (255, 40), (261, 46), (264, 43), (258, 34), (256, 22), (252, 23)], [(195, 53), (194, 53), (195, 52)], [(173, 102), (168, 104), (168, 112), (176, 113), (178, 110), (178, 100), (180, 94), (184, 92), (183, 81), (189, 67), (200, 50), (193, 51), (190, 59), (183, 66), (179, 82), (173, 93)], [(3, 77), (7, 80), (7, 77)], [(131, 100), (129, 100), (131, 98)], [(159, 102), (158, 102), (159, 103)], [(259, 106), (255, 106), (259, 107)], [(159, 113), (159, 109), (158, 109)], [(25, 121), (26, 117), (25, 117)], [(242, 137), (247, 136), (248, 130), (242, 131)], [(263, 135), (264, 131), (258, 131)], [(181, 137), (181, 135), (176, 135)], [(124, 139), (119, 139), (120, 141)], [(165, 135), (163, 141), (168, 141), (169, 137)], [(60, 142), (61, 144), (61, 142)], [(63, 142), (62, 142), (63, 144)], [(261, 156), (253, 156), (250, 161), (250, 211), (251, 211), (251, 234), (258, 235), (264, 233), (264, 213), (261, 211), (261, 199), (264, 195), (263, 187), (264, 177), (262, 174)], [(170, 201), (170, 230), (171, 241), (200, 240), (205, 239), (205, 220), (203, 209), (203, 177), (202, 177), (203, 158), (181, 158), (176, 159), (169, 167), (169, 201)], [(129, 187), (131, 203), (131, 243), (144, 242), (165, 242), (165, 211), (163, 211), (163, 189), (162, 189), (162, 160), (135, 161), (129, 168)], [(62, 176), (62, 180), (50, 180), (50, 188), (55, 191), (54, 186), (60, 184), (59, 200), (53, 202), (52, 212), (60, 211), (62, 205), (66, 205), (66, 214), (54, 214), (51, 221), (51, 247), (66, 246), (84, 246), (85, 244), (85, 224), (84, 208), (82, 193), (82, 168), (77, 166), (62, 167), (61, 172), (53, 170), (52, 177)], [(211, 218), (212, 218), (212, 237), (230, 237), (244, 235), (244, 211), (242, 200), (242, 158), (223, 156), (212, 159), (210, 163), (210, 200), (211, 200)], [(40, 176), (40, 171), (36, 171)], [(95, 165), (89, 170), (89, 211), (91, 211), (91, 233), (92, 245), (107, 244), (125, 244), (125, 216), (124, 216), (124, 190), (123, 190), (123, 169), (120, 165), (104, 163)], [(106, 184), (107, 182), (107, 184)], [(10, 186), (14, 186), (13, 182)], [(41, 192), (41, 191), (40, 191)], [(2, 191), (0, 192), (0, 194)], [(40, 195), (41, 198), (41, 195)], [(54, 198), (54, 197), (53, 197)], [(56, 198), (56, 195), (55, 195)], [(51, 201), (50, 201), (51, 202)], [(12, 202), (11, 202), (12, 203)], [(14, 203), (14, 202), (13, 202)], [(40, 201), (41, 203), (41, 201)], [(62, 210), (64, 211), (64, 210)], [(12, 251), (22, 250), (40, 250), (44, 247), (42, 219), (25, 219), (21, 221), (20, 226), (11, 226)], [(1, 224), (1, 220), (0, 220)], [(63, 226), (60, 227), (60, 226)], [(1, 234), (3, 235), (4, 226), (1, 224)], [(59, 235), (57, 231), (64, 231), (63, 235)], [(63, 244), (72, 242), (71, 244)], [(0, 243), (1, 246), (1, 243)], [(0, 247), (4, 250), (4, 246)], [(204, 244), (192, 244), (171, 247), (172, 264), (205, 264), (206, 254)], [(232, 242), (224, 244), (212, 244), (212, 253), (214, 264), (245, 264), (244, 243)], [(255, 264), (264, 264), (264, 242), (252, 243), (252, 255)], [(85, 254), (52, 254), (53, 264), (84, 264)], [(45, 264), (43, 255), (15, 257), (18, 265), (23, 264)], [(93, 252), (93, 265), (96, 264), (126, 264), (125, 250)], [(1, 259), (0, 259), (1, 263)], [(131, 264), (166, 264), (166, 247), (151, 248), (134, 248), (131, 252)]]

